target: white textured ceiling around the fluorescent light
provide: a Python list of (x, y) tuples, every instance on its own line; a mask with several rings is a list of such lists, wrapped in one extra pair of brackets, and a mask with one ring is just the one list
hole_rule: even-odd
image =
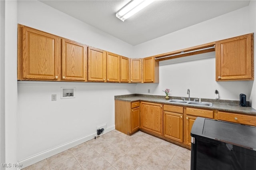
[(130, 0), (40, 0), (124, 42), (137, 45), (239, 8), (247, 0), (157, 0), (124, 22), (116, 12)]

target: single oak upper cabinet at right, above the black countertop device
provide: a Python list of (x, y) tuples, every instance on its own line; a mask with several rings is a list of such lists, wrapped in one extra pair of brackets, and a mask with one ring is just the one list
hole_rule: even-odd
[(253, 80), (253, 34), (216, 42), (216, 81)]

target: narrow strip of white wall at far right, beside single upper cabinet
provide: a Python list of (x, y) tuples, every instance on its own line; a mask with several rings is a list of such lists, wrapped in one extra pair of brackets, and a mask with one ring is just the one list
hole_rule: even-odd
[(251, 1), (249, 7), (250, 28), (254, 30), (254, 83), (252, 86), (250, 101), (252, 102), (252, 107), (256, 109), (256, 1)]

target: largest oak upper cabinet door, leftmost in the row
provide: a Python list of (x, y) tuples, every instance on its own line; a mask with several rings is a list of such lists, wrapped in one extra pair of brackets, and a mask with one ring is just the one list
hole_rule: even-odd
[(22, 26), (21, 43), (22, 59), (19, 61), (22, 64), (18, 63), (22, 65), (21, 79), (60, 79), (61, 43), (58, 36)]

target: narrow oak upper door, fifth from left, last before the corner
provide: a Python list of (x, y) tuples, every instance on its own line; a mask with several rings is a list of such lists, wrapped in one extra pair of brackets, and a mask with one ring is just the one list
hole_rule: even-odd
[(129, 58), (120, 56), (120, 82), (129, 83)]

